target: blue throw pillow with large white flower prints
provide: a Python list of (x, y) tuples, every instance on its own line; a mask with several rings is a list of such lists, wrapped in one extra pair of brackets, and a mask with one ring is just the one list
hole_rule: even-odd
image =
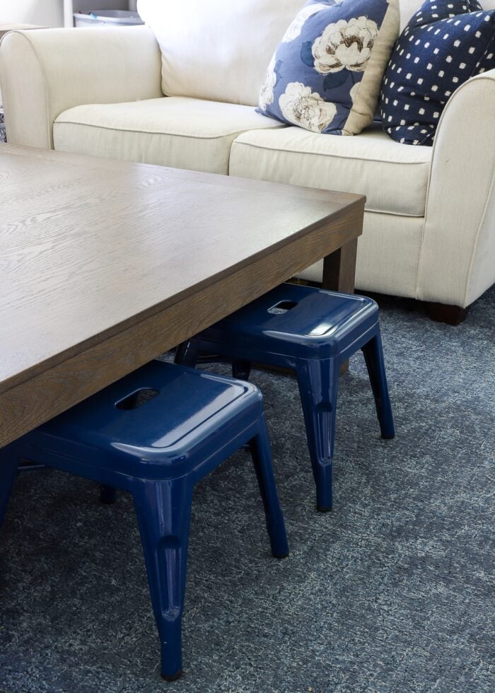
[(312, 132), (361, 132), (398, 24), (399, 0), (309, 0), (274, 53), (257, 110)]

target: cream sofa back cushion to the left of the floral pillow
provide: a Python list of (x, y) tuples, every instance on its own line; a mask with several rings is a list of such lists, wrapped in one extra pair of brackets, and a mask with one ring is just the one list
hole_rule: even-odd
[(257, 105), (267, 64), (304, 0), (138, 0), (165, 95)]

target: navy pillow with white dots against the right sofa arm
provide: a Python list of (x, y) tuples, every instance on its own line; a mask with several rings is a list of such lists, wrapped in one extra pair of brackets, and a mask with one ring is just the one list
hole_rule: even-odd
[(450, 95), (495, 68), (495, 10), (476, 0), (426, 0), (395, 44), (380, 115), (392, 139), (431, 146)]

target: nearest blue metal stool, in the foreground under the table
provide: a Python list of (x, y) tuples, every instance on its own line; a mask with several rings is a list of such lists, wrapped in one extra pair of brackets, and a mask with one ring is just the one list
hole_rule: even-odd
[(18, 458), (129, 491), (161, 641), (161, 672), (182, 670), (181, 619), (194, 484), (248, 443), (272, 554), (289, 553), (262, 395), (254, 385), (153, 361), (0, 450), (0, 521)]

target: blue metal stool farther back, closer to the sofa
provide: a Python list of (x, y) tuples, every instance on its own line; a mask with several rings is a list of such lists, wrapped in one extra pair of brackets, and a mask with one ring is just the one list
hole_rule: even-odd
[[(236, 378), (251, 363), (296, 371), (316, 484), (316, 505), (332, 509), (332, 459), (339, 366), (362, 349), (383, 438), (395, 436), (378, 305), (371, 298), (281, 284), (178, 347), (175, 361), (233, 362)], [(201, 353), (214, 356), (201, 356)]]

